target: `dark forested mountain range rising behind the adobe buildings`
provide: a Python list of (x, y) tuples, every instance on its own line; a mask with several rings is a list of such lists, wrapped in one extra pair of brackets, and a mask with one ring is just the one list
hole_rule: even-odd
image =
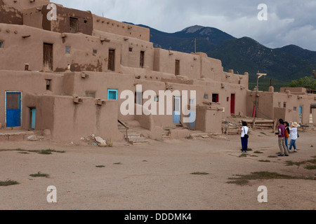
[(268, 73), (260, 80), (261, 90), (268, 90), (273, 80), (275, 90), (286, 87), (291, 80), (311, 76), (316, 69), (316, 52), (296, 45), (283, 48), (267, 48), (249, 37), (235, 38), (212, 27), (192, 26), (176, 33), (166, 33), (145, 25), (150, 29), (150, 42), (155, 48), (194, 52), (205, 52), (209, 57), (220, 59), (224, 71), (249, 72), (249, 89), (256, 86), (256, 73)]

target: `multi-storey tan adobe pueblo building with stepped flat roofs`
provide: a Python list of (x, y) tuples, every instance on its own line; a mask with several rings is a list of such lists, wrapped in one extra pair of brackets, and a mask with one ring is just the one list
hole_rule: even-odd
[[(56, 141), (76, 141), (91, 134), (122, 141), (119, 124), (123, 122), (138, 124), (145, 137), (162, 139), (164, 130), (176, 130), (178, 125), (221, 134), (223, 119), (235, 114), (252, 116), (256, 92), (248, 90), (249, 74), (225, 72), (218, 59), (202, 52), (154, 48), (149, 29), (89, 11), (48, 6), (50, 1), (39, 0), (0, 3), (3, 130), (45, 131)], [(170, 115), (124, 116), (121, 104), (126, 99), (121, 99), (121, 93), (126, 90), (135, 93), (135, 110), (149, 100), (143, 99), (147, 90), (157, 94), (157, 106), (163, 100), (159, 91), (180, 94), (173, 95)], [(182, 91), (196, 91), (196, 96), (183, 96)], [(298, 120), (302, 106), (301, 123), (308, 124), (308, 108), (315, 96), (304, 90), (282, 91), (260, 92), (258, 108), (267, 118)], [(191, 104), (197, 105), (196, 110), (190, 111)], [(195, 122), (183, 123), (187, 117), (183, 106), (195, 114)], [(295, 106), (296, 112), (290, 111)]]

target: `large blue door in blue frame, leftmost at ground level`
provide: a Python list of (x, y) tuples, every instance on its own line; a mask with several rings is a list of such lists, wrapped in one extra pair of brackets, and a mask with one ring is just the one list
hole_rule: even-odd
[(21, 126), (21, 93), (6, 92), (6, 127)]

